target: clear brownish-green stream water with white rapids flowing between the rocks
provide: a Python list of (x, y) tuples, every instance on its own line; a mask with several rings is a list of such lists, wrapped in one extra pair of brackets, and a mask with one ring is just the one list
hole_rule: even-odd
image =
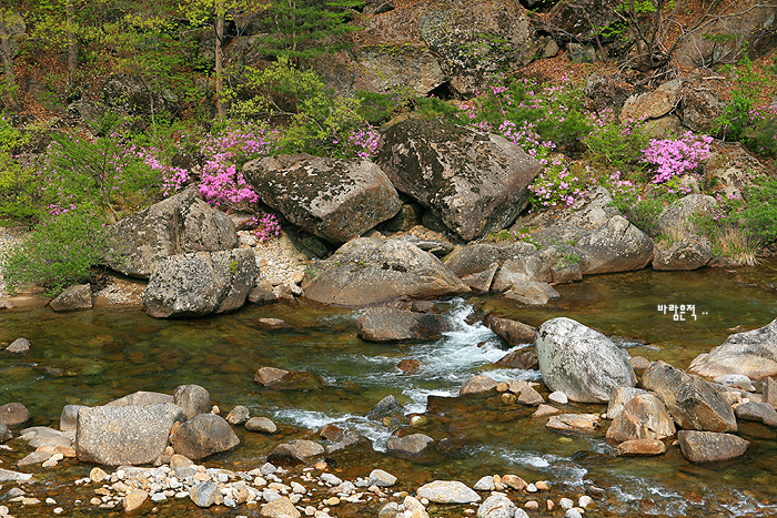
[[(545, 429), (545, 419), (531, 419), (532, 409), (504, 405), (497, 396), (450, 396), (477, 373), (497, 380), (539, 378), (538, 372), (496, 368), (494, 362), (507, 347), (480, 323), (486, 312), (533, 325), (568, 316), (616, 337), (632, 355), (687, 368), (696, 355), (720, 344), (726, 329), (759, 327), (777, 317), (776, 284), (773, 262), (754, 270), (587, 277), (557, 286), (562, 299), (541, 308), (496, 296), (440, 301), (438, 309), (454, 331), (437, 342), (411, 345), (362, 342), (355, 333), (359, 312), (306, 302), (245, 307), (200, 321), (158, 321), (137, 307), (69, 315), (21, 307), (0, 313), (0, 342), (24, 336), (32, 351), (23, 356), (2, 353), (0, 404), (21, 402), (34, 425), (57, 427), (65, 404), (98, 405), (134, 390), (171, 393), (181, 384), (199, 384), (223, 410), (245, 405), (252, 415), (279, 424), (271, 437), (239, 430), (241, 446), (208, 464), (256, 467), (278, 443), (335, 423), (366, 435), (377, 450), (341, 460), (347, 476), (383, 467), (414, 487), (433, 478), (472, 485), (484, 475), (516, 473), (547, 479), (561, 494), (604, 488), (604, 515), (774, 516), (777, 440), (763, 425), (740, 424), (739, 435), (751, 443), (744, 459), (694, 466), (677, 447), (655, 458), (618, 458), (604, 430), (594, 436), (556, 434)], [(685, 321), (676, 321), (670, 312), (657, 311), (670, 304), (694, 305), (696, 318), (686, 312)], [(291, 325), (264, 331), (256, 324), (260, 317)], [(418, 370), (397, 369), (405, 358), (418, 360)], [(253, 382), (261, 366), (310, 370), (325, 387), (307, 393), (263, 389)], [(447, 447), (418, 463), (385, 457), (381, 451), (393, 428), (363, 416), (389, 394), (410, 413), (426, 412), (428, 421), (417, 431), (447, 438)], [(88, 467), (73, 463), (71, 471), (82, 476)], [(48, 477), (52, 488), (67, 481)]]

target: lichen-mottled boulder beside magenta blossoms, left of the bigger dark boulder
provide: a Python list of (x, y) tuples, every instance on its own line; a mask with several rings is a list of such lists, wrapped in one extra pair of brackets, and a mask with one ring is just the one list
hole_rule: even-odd
[(362, 235), (402, 206), (389, 177), (367, 159), (284, 154), (248, 162), (243, 174), (264, 203), (333, 243)]

